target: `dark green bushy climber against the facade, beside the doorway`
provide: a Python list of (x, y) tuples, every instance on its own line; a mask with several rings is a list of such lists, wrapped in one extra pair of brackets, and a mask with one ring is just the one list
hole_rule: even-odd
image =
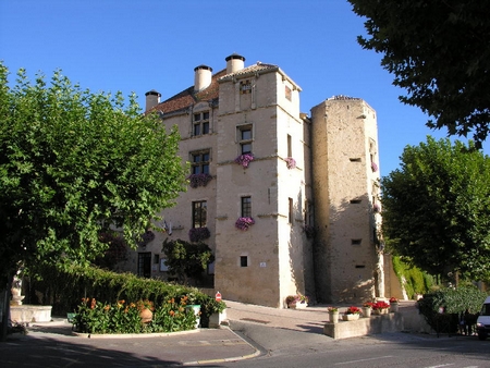
[(197, 280), (207, 266), (215, 260), (211, 249), (203, 242), (188, 243), (182, 240), (164, 240), (162, 252), (166, 254), (166, 265), (169, 272), (177, 277), (184, 285), (187, 279)]

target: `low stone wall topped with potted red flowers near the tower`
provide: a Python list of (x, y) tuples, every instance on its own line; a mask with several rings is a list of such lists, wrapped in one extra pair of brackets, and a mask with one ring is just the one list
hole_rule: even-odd
[(359, 318), (354, 321), (327, 322), (323, 327), (323, 333), (333, 339), (347, 339), (383, 332), (397, 332), (404, 330), (403, 320), (402, 314), (393, 312)]

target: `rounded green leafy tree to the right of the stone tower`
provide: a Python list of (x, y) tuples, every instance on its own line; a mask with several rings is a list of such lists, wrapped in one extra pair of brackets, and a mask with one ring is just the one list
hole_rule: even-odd
[(490, 275), (490, 159), (471, 143), (406, 146), (381, 181), (383, 233), (396, 255), (434, 275)]

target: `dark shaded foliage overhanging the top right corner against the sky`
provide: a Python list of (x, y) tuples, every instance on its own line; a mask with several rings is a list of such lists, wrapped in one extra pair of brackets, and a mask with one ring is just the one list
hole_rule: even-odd
[(419, 107), (427, 125), (450, 135), (473, 132), (476, 147), (490, 122), (490, 20), (485, 1), (348, 0), (366, 16), (365, 49), (383, 53), (381, 65), (393, 84), (407, 91), (400, 99)]

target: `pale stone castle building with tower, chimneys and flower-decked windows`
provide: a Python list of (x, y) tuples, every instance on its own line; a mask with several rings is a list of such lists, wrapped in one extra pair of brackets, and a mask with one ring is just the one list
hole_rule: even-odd
[[(147, 94), (147, 111), (179, 126), (189, 174), (212, 179), (182, 193), (162, 213), (167, 233), (121, 267), (167, 279), (162, 241), (188, 241), (191, 229), (206, 226), (216, 261), (197, 285), (225, 299), (282, 308), (297, 293), (313, 302), (383, 296), (376, 112), (338, 97), (308, 118), (299, 112), (299, 86), (279, 66), (244, 61), (230, 56), (215, 74), (197, 66), (194, 86), (163, 102)], [(248, 167), (235, 162), (243, 154), (254, 158)], [(240, 230), (241, 217), (255, 223)]]

